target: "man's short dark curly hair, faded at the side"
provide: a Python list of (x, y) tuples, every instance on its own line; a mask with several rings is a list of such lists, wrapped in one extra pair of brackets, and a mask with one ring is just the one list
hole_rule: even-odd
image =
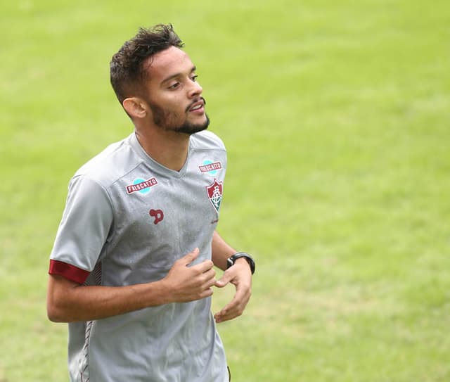
[(171, 46), (184, 46), (171, 24), (141, 27), (136, 36), (124, 42), (110, 62), (110, 81), (120, 103), (139, 94), (141, 82), (148, 79), (147, 66), (143, 65), (146, 60)]

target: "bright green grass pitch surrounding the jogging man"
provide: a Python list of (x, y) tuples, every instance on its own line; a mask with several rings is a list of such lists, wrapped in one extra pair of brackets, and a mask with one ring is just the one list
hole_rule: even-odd
[(68, 179), (131, 132), (108, 63), (160, 22), (229, 149), (219, 231), (257, 258), (219, 326), (233, 381), (450, 381), (444, 0), (2, 2), (0, 381), (68, 380), (45, 312)]

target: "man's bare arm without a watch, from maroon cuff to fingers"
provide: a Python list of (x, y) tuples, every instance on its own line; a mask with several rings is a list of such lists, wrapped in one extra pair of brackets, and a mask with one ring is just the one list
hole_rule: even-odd
[(47, 314), (51, 321), (89, 321), (208, 297), (216, 283), (213, 263), (207, 260), (188, 267), (197, 257), (198, 248), (177, 260), (164, 279), (131, 286), (82, 286), (50, 275)]

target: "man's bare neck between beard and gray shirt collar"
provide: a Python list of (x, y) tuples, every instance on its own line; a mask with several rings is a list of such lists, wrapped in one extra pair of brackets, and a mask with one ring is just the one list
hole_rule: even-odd
[(189, 135), (162, 129), (135, 129), (142, 148), (156, 162), (170, 170), (179, 171), (186, 163)]

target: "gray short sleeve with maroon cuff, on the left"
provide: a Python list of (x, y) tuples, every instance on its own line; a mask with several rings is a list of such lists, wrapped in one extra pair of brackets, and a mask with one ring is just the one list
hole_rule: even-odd
[(103, 186), (84, 176), (72, 178), (50, 255), (49, 273), (82, 284), (98, 262), (113, 216)]

